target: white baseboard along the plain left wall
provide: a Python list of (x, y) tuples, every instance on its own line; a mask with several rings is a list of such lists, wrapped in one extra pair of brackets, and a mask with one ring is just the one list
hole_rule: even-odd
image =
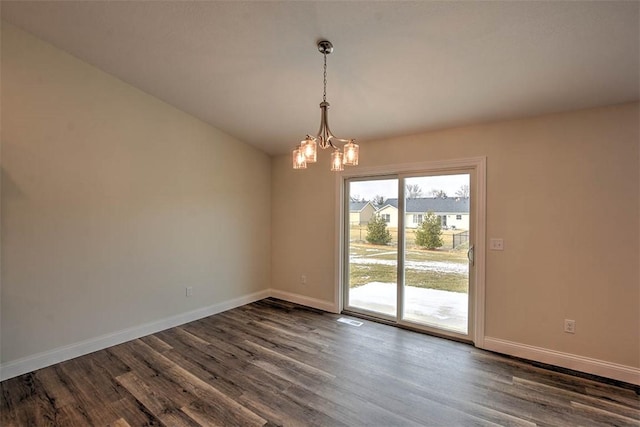
[(160, 332), (165, 329), (193, 322), (194, 320), (240, 307), (269, 296), (270, 290), (255, 292), (208, 307), (199, 308), (197, 310), (188, 311), (165, 319), (145, 323), (140, 326), (134, 326), (121, 331), (66, 345), (64, 347), (55, 348), (43, 353), (12, 360), (0, 364), (0, 381), (17, 377), (18, 375), (26, 374), (27, 372), (32, 372), (36, 369), (51, 366), (55, 363), (60, 363), (78, 356), (93, 353), (94, 351), (102, 350), (107, 347), (155, 334), (156, 332)]

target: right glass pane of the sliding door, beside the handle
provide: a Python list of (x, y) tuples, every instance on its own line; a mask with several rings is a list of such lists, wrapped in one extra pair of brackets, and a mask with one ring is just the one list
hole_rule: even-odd
[(470, 175), (404, 179), (403, 321), (467, 335)]

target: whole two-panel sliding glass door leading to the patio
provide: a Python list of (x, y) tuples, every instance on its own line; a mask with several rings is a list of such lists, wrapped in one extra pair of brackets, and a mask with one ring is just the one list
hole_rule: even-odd
[(469, 338), (473, 176), (457, 169), (344, 181), (345, 311)]

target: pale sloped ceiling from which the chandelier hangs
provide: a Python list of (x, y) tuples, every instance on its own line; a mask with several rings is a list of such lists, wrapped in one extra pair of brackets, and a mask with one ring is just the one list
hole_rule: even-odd
[(634, 101), (640, 3), (2, 1), (2, 18), (262, 150)]

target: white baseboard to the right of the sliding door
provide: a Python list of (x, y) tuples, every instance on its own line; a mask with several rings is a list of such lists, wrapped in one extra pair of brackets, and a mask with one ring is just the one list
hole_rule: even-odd
[(484, 338), (483, 348), (510, 356), (521, 357), (527, 360), (640, 385), (640, 369), (632, 366), (619, 365), (617, 363), (491, 337)]

